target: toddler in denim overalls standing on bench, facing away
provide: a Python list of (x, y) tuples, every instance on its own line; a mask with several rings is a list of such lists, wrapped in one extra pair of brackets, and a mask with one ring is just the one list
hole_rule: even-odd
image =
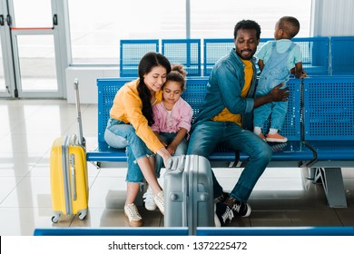
[[(290, 41), (299, 33), (300, 23), (292, 16), (283, 16), (275, 25), (275, 41), (269, 41), (257, 54), (258, 65), (261, 70), (255, 97), (270, 93), (271, 89), (280, 83), (286, 87), (290, 73), (297, 78), (306, 77), (302, 69), (302, 55), (300, 46)], [(288, 110), (288, 102), (273, 102), (263, 104), (254, 109), (253, 132), (267, 142), (287, 142), (288, 139), (280, 135), (282, 124)], [(270, 131), (266, 137), (261, 127), (270, 117)]]

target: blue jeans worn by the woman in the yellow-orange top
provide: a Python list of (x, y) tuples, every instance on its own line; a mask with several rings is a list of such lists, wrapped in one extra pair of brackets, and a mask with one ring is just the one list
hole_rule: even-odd
[(126, 181), (143, 182), (143, 172), (140, 170), (137, 159), (154, 156), (146, 144), (139, 138), (133, 125), (110, 119), (104, 132), (104, 140), (113, 148), (123, 149), (128, 158)]

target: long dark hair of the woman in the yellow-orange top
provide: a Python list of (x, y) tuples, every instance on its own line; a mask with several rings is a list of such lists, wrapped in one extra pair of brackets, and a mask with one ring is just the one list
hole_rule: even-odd
[(150, 93), (149, 88), (143, 81), (143, 75), (150, 73), (153, 67), (162, 66), (166, 69), (167, 73), (171, 72), (170, 61), (160, 53), (149, 52), (143, 55), (143, 58), (140, 60), (138, 73), (140, 82), (138, 84), (139, 96), (143, 102), (143, 116), (147, 119), (149, 126), (153, 124), (153, 115), (152, 115), (152, 94)]

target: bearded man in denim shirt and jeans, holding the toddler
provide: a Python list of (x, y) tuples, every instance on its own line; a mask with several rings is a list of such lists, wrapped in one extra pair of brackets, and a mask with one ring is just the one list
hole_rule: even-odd
[[(276, 86), (269, 94), (253, 99), (256, 68), (253, 54), (260, 42), (261, 27), (254, 21), (242, 20), (234, 27), (235, 48), (214, 65), (206, 88), (201, 111), (192, 126), (188, 154), (208, 157), (222, 144), (250, 156), (231, 193), (223, 192), (212, 173), (216, 203), (215, 225), (224, 225), (234, 216), (248, 217), (247, 204), (251, 191), (271, 159), (270, 146), (244, 127), (252, 110), (265, 103), (287, 101), (288, 89)], [(251, 126), (248, 128), (251, 130)]]

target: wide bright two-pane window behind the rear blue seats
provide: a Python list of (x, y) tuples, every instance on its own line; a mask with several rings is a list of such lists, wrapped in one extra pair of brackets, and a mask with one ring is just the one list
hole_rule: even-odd
[(188, 2), (191, 38), (232, 38), (233, 27), (241, 19), (257, 21), (261, 24), (261, 38), (271, 38), (282, 15), (300, 20), (297, 37), (310, 36), (309, 0), (68, 2), (73, 64), (118, 64), (121, 39), (186, 38)]

